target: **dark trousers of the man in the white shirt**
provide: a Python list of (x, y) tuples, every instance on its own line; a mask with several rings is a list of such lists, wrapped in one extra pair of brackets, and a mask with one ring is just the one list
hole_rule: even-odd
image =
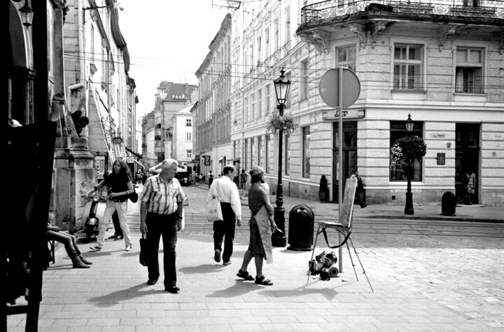
[[(223, 219), (214, 222), (214, 250), (221, 250), (223, 261), (231, 259), (233, 240), (235, 240), (236, 216), (230, 203), (221, 203)], [(222, 248), (224, 242), (224, 251)]]

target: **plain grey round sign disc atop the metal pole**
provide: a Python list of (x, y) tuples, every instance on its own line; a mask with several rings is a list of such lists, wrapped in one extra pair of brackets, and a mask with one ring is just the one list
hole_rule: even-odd
[[(324, 103), (333, 108), (339, 107), (338, 88), (339, 68), (326, 71), (318, 85), (321, 98)], [(343, 108), (352, 106), (360, 94), (360, 82), (353, 71), (343, 68)]]

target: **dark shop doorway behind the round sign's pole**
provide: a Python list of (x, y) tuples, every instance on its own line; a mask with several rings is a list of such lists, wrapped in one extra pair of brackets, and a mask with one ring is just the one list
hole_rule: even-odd
[[(332, 135), (332, 201), (339, 200), (339, 159), (338, 159), (338, 124), (333, 124)], [(357, 168), (357, 122), (343, 122), (343, 179), (344, 186), (346, 179), (350, 178), (353, 169)], [(343, 190), (344, 192), (344, 190)]]

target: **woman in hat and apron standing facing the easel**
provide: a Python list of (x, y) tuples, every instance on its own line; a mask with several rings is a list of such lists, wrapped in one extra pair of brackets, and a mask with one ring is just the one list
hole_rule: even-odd
[(243, 263), (238, 270), (237, 276), (244, 280), (254, 280), (247, 272), (248, 263), (255, 262), (255, 284), (271, 286), (273, 282), (262, 274), (262, 262), (266, 259), (267, 264), (273, 262), (272, 232), (278, 231), (273, 219), (274, 208), (269, 203), (269, 192), (266, 192), (264, 175), (265, 171), (260, 166), (254, 166), (250, 172), (251, 187), (248, 189), (248, 208), (251, 210), (250, 240), (248, 250), (245, 252)]

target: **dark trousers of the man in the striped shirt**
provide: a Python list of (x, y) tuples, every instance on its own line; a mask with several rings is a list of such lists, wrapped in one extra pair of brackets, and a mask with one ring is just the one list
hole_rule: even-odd
[(147, 243), (148, 243), (148, 278), (157, 280), (160, 277), (158, 251), (160, 237), (163, 240), (163, 268), (165, 270), (165, 287), (176, 285), (176, 241), (177, 241), (177, 214), (158, 215), (147, 212)]

